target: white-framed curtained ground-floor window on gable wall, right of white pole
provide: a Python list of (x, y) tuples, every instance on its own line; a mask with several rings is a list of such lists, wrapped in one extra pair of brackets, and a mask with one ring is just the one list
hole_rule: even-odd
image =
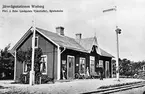
[(47, 55), (41, 56), (40, 71), (42, 74), (47, 74)]

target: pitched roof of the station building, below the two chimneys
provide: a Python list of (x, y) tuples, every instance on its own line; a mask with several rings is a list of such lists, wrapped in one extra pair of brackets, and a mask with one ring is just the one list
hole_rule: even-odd
[[(59, 45), (60, 47), (65, 47), (67, 49), (72, 49), (80, 52), (90, 53), (93, 45), (98, 46), (97, 38), (84, 38), (80, 40), (78, 43), (74, 38), (70, 38), (67, 36), (58, 35), (57, 33), (53, 33), (41, 28), (36, 28), (37, 32), (42, 34), (44, 37), (51, 40), (52, 43)], [(32, 33), (31, 28), (24, 34), (24, 36), (16, 43), (16, 45), (12, 48), (14, 51), (19, 47), (19, 45)], [(111, 54), (106, 51), (100, 49), (101, 55), (106, 57), (113, 57)]]

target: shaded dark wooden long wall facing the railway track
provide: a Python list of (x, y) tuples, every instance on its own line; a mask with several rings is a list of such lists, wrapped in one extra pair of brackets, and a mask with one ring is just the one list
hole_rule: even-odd
[[(104, 56), (100, 56), (99, 54), (97, 54), (95, 51), (91, 52), (91, 53), (82, 53), (82, 52), (78, 52), (78, 51), (74, 51), (74, 50), (70, 50), (70, 49), (65, 49), (64, 52), (61, 54), (61, 69), (63, 66), (63, 61), (66, 62), (67, 65), (67, 56), (74, 56), (75, 58), (75, 62), (74, 62), (74, 72), (73, 74), (75, 75), (76, 73), (79, 73), (79, 64), (80, 64), (80, 58), (85, 58), (86, 60), (86, 66), (85, 68), (87, 69), (87, 67), (89, 68), (89, 72), (90, 72), (90, 56), (94, 56), (95, 57), (95, 65), (94, 65), (94, 69), (95, 72), (97, 72), (97, 65), (99, 64), (99, 60), (103, 61), (103, 69), (104, 69), (104, 78), (111, 78), (112, 74), (111, 74), (111, 57), (104, 57)], [(105, 61), (109, 61), (109, 77), (106, 77), (106, 63)], [(63, 74), (62, 74), (62, 70), (61, 70), (61, 79), (63, 79)], [(74, 75), (73, 78), (74, 79)]]

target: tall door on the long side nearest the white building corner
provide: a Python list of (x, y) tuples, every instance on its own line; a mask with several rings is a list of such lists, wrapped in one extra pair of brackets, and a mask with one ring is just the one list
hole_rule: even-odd
[(67, 57), (67, 78), (73, 79), (74, 78), (74, 56)]

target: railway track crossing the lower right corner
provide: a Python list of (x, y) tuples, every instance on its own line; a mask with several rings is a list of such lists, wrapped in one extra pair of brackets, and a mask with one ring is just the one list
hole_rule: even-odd
[(145, 86), (145, 81), (140, 82), (140, 83), (130, 84), (130, 85), (110, 87), (110, 88), (106, 88), (106, 89), (98, 89), (96, 91), (85, 92), (82, 94), (110, 94), (110, 93), (115, 93), (115, 92), (119, 92), (119, 91), (130, 90), (133, 88), (139, 88), (139, 87), (143, 87), (143, 86)]

